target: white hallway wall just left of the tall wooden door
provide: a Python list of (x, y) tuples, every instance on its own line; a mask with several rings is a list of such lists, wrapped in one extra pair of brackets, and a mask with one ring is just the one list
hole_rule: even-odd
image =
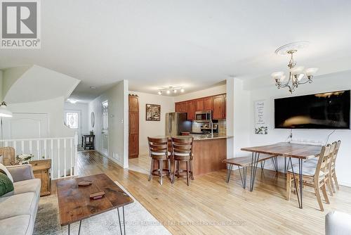
[(128, 81), (123, 80), (88, 104), (90, 113), (95, 113), (95, 149), (102, 153), (102, 105), (109, 102), (109, 156), (122, 167), (128, 167)]

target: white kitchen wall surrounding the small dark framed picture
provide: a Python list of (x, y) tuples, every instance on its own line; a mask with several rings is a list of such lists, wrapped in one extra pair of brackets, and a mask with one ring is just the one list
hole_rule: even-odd
[[(166, 134), (166, 113), (174, 112), (174, 98), (172, 96), (159, 96), (136, 91), (129, 94), (139, 96), (139, 155), (149, 153), (147, 136), (164, 136)], [(161, 105), (161, 120), (145, 120), (145, 105), (147, 103)]]

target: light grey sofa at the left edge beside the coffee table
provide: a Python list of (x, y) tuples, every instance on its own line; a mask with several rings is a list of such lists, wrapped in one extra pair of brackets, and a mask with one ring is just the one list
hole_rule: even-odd
[(13, 177), (13, 192), (0, 197), (1, 235), (33, 234), (40, 198), (40, 179), (31, 165), (6, 166)]

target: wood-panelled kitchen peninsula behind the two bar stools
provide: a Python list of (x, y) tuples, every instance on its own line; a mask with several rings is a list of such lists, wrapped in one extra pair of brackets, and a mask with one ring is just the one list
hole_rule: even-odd
[[(160, 137), (165, 136), (155, 136), (155, 138)], [(176, 137), (186, 138), (188, 136)], [(194, 154), (194, 160), (192, 160), (192, 169), (194, 176), (226, 169), (226, 165), (222, 161), (227, 158), (227, 139), (232, 138), (232, 136), (213, 134), (213, 136), (194, 135), (193, 137), (192, 153)], [(171, 142), (171, 137), (168, 136), (168, 138)], [(171, 164), (173, 165), (173, 161)], [(183, 163), (181, 167), (185, 169), (186, 164)], [(173, 167), (171, 169), (173, 170)]]

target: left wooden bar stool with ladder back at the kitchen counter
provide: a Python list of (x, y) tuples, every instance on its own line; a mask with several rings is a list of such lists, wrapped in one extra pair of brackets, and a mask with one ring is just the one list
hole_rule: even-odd
[[(168, 138), (150, 138), (147, 137), (149, 142), (149, 152), (151, 158), (150, 176), (149, 181), (152, 176), (159, 177), (159, 184), (162, 185), (162, 178), (164, 176), (171, 177), (171, 152), (168, 151)], [(159, 162), (159, 167), (154, 169), (154, 161)], [(163, 162), (167, 160), (168, 169), (164, 169)]]

